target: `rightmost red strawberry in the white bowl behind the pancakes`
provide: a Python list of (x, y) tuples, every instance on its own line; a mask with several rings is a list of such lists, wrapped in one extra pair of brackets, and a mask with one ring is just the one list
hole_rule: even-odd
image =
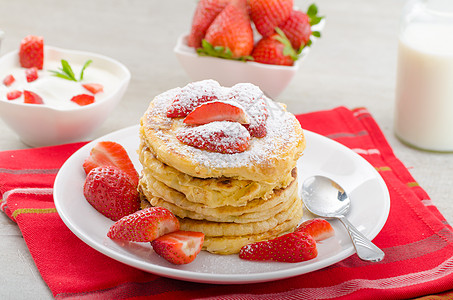
[(311, 36), (311, 26), (306, 13), (300, 10), (293, 10), (289, 18), (278, 27), (285, 33), (296, 51), (308, 45)]

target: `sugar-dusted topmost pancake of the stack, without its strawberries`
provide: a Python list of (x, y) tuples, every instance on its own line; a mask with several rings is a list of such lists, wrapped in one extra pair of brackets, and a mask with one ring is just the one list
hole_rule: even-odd
[[(156, 96), (140, 122), (142, 142), (163, 163), (199, 178), (225, 176), (271, 184), (295, 167), (305, 139), (299, 122), (282, 104), (263, 96), (269, 112), (266, 136), (252, 137), (244, 152), (222, 154), (185, 145), (176, 138), (176, 132), (188, 125), (183, 118), (167, 117), (167, 110), (180, 91), (175, 88)], [(220, 92), (227, 93), (228, 88)]]

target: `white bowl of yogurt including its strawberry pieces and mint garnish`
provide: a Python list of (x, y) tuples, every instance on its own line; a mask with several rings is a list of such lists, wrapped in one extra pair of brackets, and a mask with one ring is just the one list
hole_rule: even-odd
[(29, 146), (81, 141), (117, 106), (130, 77), (116, 60), (28, 36), (0, 58), (0, 117)]

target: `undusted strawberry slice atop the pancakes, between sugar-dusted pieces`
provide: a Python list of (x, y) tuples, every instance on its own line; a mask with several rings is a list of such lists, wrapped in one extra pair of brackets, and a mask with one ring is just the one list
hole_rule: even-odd
[(190, 125), (203, 125), (214, 121), (231, 121), (249, 124), (250, 121), (244, 110), (233, 104), (222, 101), (212, 101), (196, 107), (184, 119)]

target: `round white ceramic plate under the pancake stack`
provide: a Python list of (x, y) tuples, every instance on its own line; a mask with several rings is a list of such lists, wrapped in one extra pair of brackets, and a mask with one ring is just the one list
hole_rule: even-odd
[[(305, 131), (307, 149), (298, 162), (299, 186), (315, 174), (337, 180), (350, 194), (350, 221), (368, 238), (373, 239), (384, 226), (390, 208), (387, 187), (377, 171), (362, 157), (343, 145), (321, 135)], [(127, 265), (180, 280), (244, 284), (292, 277), (339, 262), (354, 253), (342, 225), (331, 221), (335, 236), (318, 244), (318, 257), (301, 263), (251, 262), (237, 255), (214, 255), (202, 251), (194, 262), (176, 266), (155, 254), (149, 243), (125, 243), (107, 237), (113, 221), (98, 213), (85, 200), (82, 168), (90, 149), (100, 140), (116, 141), (128, 151), (137, 170), (141, 170), (138, 149), (138, 126), (108, 134), (78, 150), (60, 169), (55, 180), (54, 200), (63, 221), (82, 241), (99, 252)], [(308, 212), (303, 219), (312, 218)]]

